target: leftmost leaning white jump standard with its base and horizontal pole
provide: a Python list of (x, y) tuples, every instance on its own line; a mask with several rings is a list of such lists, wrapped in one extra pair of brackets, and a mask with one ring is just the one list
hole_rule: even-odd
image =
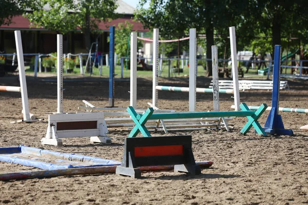
[(17, 51), (17, 59), (18, 59), (18, 73), (19, 73), (21, 86), (20, 87), (0, 86), (0, 91), (20, 92), (22, 95), (23, 119), (11, 121), (11, 123), (41, 121), (43, 119), (33, 119), (35, 118), (35, 116), (29, 112), (28, 91), (27, 91), (27, 83), (26, 83), (22, 36), (21, 36), (21, 31), (15, 31), (14, 33), (15, 33), (15, 43), (16, 43), (16, 51)]

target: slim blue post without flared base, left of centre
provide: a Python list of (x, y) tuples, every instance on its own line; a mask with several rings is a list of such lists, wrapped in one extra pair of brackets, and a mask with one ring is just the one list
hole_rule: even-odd
[(114, 107), (114, 26), (110, 26), (109, 37), (109, 107)]

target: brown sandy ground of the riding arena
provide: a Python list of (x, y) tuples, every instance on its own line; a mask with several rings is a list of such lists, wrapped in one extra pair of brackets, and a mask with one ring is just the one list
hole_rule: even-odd
[[(67, 77), (68, 78), (68, 77)], [(56, 111), (55, 77), (27, 76), (30, 111), (48, 119)], [(43, 81), (45, 80), (45, 81)], [(188, 78), (160, 79), (164, 85), (188, 86)], [(280, 92), (280, 107), (308, 108), (307, 81), (288, 80), (291, 90)], [(198, 77), (198, 87), (208, 87), (210, 78)], [(18, 86), (16, 76), (0, 78), (0, 85)], [(151, 101), (151, 79), (138, 78), (138, 107)], [(75, 112), (86, 99), (97, 107), (108, 105), (107, 78), (64, 82), (64, 110)], [(115, 106), (129, 105), (129, 79), (115, 81)], [(248, 105), (271, 106), (271, 91), (250, 90), (240, 93)], [(20, 93), (0, 93), (0, 146), (25, 145), (53, 151), (78, 153), (122, 160), (128, 129), (110, 129), (112, 145), (91, 145), (89, 138), (64, 139), (64, 147), (42, 146), (47, 121), (10, 124), (22, 118)], [(161, 109), (188, 110), (188, 93), (159, 92)], [(230, 110), (233, 98), (220, 95), (222, 111)], [(211, 94), (197, 94), (197, 110), (213, 110)], [(266, 111), (259, 119), (261, 125)], [(293, 136), (258, 136), (252, 130), (239, 133), (247, 119), (234, 120), (232, 132), (188, 131), (169, 135), (192, 135), (196, 161), (214, 161), (213, 168), (191, 177), (183, 173), (148, 172), (141, 179), (115, 174), (69, 176), (19, 181), (0, 181), (1, 204), (308, 204), (308, 133), (303, 113), (280, 113)], [(155, 136), (163, 135), (157, 133)], [(0, 173), (36, 170), (0, 162)]]

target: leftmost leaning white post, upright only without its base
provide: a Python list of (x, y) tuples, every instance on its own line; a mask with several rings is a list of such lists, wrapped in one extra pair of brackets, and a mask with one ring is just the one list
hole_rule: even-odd
[(28, 91), (26, 83), (25, 63), (24, 63), (24, 52), (22, 44), (21, 31), (15, 31), (15, 42), (18, 60), (18, 72), (20, 76), (22, 103), (23, 103), (23, 116), (25, 121), (30, 121), (29, 103), (28, 103)]

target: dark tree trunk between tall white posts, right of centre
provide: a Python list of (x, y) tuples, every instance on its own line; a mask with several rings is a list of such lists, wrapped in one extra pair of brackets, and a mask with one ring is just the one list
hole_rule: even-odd
[(206, 76), (212, 76), (213, 71), (211, 67), (211, 46), (214, 45), (214, 26), (212, 23), (206, 28)]

